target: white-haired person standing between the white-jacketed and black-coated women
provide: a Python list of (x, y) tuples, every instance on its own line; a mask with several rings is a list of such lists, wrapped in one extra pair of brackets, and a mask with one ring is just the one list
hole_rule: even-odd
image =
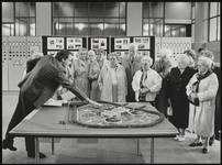
[(152, 68), (156, 70), (159, 76), (162, 76), (163, 81), (162, 81), (162, 88), (159, 90), (159, 94), (156, 96), (156, 109), (164, 113), (167, 117), (167, 107), (168, 107), (168, 99), (167, 99), (167, 91), (166, 91), (166, 86), (167, 86), (167, 79), (169, 76), (169, 73), (173, 67), (175, 67), (177, 64), (171, 58), (173, 52), (167, 48), (163, 48), (159, 51), (159, 61), (156, 61)]

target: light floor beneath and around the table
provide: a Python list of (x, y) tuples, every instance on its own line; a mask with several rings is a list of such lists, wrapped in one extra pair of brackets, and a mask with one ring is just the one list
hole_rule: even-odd
[[(2, 92), (2, 139), (16, 106), (18, 92)], [(157, 164), (221, 164), (221, 142), (215, 141), (208, 154), (202, 147), (190, 147), (196, 135), (187, 132), (184, 142), (173, 138), (155, 139), (155, 157)], [(18, 151), (2, 150), (3, 164), (33, 164), (34, 158), (26, 156), (24, 139), (15, 138)], [(46, 154), (41, 164), (149, 164), (151, 140), (141, 139), (140, 155), (136, 155), (135, 139), (99, 139), (98, 143), (79, 143), (77, 139), (60, 139), (55, 143), (55, 155), (51, 153), (51, 143), (41, 143), (40, 150)]]

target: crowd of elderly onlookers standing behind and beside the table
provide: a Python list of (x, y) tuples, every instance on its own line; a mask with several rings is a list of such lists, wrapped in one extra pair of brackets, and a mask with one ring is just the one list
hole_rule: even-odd
[(173, 52), (163, 48), (153, 64), (151, 56), (140, 55), (137, 45), (131, 43), (129, 55), (121, 61), (114, 52), (103, 57), (102, 48), (81, 48), (70, 67), (73, 82), (90, 99), (149, 102), (178, 129), (175, 140), (184, 141), (186, 130), (196, 133), (190, 146), (203, 145), (202, 153), (219, 140), (221, 78), (212, 52), (200, 47), (197, 56), (187, 50), (175, 61)]

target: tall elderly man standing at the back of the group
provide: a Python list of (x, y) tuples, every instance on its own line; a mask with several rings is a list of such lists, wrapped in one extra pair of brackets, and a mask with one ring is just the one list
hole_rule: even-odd
[(137, 70), (141, 69), (141, 58), (142, 56), (137, 54), (137, 44), (131, 43), (129, 47), (129, 55), (123, 56), (122, 66), (125, 68), (127, 77), (127, 102), (135, 102), (135, 92), (132, 88), (133, 76)]

